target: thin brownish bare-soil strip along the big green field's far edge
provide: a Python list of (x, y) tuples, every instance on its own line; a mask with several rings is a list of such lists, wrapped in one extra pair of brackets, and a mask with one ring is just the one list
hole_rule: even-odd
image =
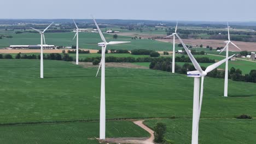
[[(73, 62), (74, 63), (74, 62)], [(79, 62), (84, 68), (98, 68), (98, 65), (93, 65), (91, 62)], [(141, 65), (136, 65), (132, 63), (105, 63), (106, 67), (113, 68), (135, 68), (135, 69), (149, 69), (148, 67), (143, 67)]]

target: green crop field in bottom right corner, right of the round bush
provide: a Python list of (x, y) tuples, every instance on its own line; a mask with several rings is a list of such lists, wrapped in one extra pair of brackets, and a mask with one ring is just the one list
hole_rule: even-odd
[[(144, 123), (153, 128), (156, 122), (167, 124), (166, 139), (174, 143), (191, 143), (192, 119), (159, 119)], [(256, 141), (255, 119), (201, 119), (199, 125), (199, 143), (253, 144)]]

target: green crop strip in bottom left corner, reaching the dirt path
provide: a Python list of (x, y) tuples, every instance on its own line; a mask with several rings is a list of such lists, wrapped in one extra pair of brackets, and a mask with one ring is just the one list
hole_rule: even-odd
[[(4, 125), (0, 143), (88, 143), (96, 144), (99, 122)], [(147, 131), (129, 121), (108, 121), (107, 137), (147, 137)]]

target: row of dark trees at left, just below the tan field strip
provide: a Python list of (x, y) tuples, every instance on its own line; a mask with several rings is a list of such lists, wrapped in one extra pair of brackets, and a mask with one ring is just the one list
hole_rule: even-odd
[[(69, 56), (68, 54), (64, 53), (61, 55), (60, 53), (49, 53), (48, 55), (43, 55), (44, 59), (51, 59), (51, 60), (57, 60), (57, 61), (73, 61), (73, 57)], [(2, 55), (0, 54), (0, 59), (13, 59), (12, 55)], [(40, 59), (40, 55), (22, 55), (21, 53), (18, 53), (15, 56), (15, 59)]]

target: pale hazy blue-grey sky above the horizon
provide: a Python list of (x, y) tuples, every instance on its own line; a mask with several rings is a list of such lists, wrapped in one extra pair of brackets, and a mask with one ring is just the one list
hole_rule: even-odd
[(0, 0), (0, 19), (256, 21), (255, 0)]

